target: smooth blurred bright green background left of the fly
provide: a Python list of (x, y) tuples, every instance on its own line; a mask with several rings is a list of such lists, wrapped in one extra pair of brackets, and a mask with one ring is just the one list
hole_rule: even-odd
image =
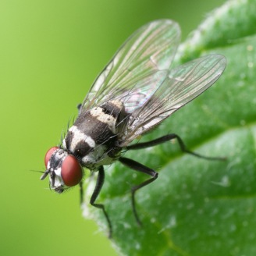
[(0, 2), (1, 255), (116, 255), (82, 217), (75, 188), (58, 195), (40, 181), (94, 78), (138, 27), (169, 18), (183, 38), (215, 0), (2, 0)]

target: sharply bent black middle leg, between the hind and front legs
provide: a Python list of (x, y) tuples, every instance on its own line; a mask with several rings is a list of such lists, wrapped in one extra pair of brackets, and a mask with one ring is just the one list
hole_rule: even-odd
[(119, 161), (123, 163), (123, 165), (126, 165), (130, 169), (133, 169), (137, 172), (143, 172), (145, 174), (148, 174), (151, 176), (150, 179), (145, 180), (143, 183), (140, 183), (139, 185), (132, 187), (132, 208), (133, 208), (133, 215), (135, 216), (135, 219), (137, 220), (137, 223), (141, 226), (140, 218), (137, 214), (136, 210), (136, 202), (135, 202), (135, 193), (137, 190), (139, 190), (141, 187), (145, 187), (154, 180), (158, 178), (158, 172), (155, 172), (153, 169), (148, 168), (147, 166), (141, 165), (139, 162), (133, 161), (129, 158), (119, 158)]

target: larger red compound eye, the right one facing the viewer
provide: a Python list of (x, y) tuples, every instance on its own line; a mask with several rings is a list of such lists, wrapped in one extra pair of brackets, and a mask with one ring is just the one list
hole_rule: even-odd
[(62, 162), (62, 180), (68, 187), (76, 186), (83, 178), (83, 169), (73, 155), (68, 155)]

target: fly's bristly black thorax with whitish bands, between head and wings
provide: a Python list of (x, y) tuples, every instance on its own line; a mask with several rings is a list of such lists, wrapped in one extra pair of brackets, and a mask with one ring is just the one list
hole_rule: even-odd
[(81, 110), (63, 140), (63, 147), (88, 169), (111, 164), (120, 151), (116, 145), (123, 129), (119, 123), (124, 116), (123, 102), (118, 100)]

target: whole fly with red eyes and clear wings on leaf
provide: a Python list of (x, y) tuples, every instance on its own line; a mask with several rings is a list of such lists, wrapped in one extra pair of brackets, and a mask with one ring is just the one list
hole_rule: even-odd
[(208, 89), (225, 69), (226, 59), (222, 55), (206, 55), (171, 69), (179, 42), (180, 27), (172, 20), (156, 20), (140, 27), (94, 81), (62, 143), (45, 155), (46, 170), (41, 180), (49, 175), (50, 187), (58, 193), (80, 184), (81, 201), (84, 168), (98, 172), (90, 203), (105, 215), (109, 236), (112, 222), (104, 204), (95, 203), (105, 180), (104, 165), (118, 160), (150, 176), (131, 190), (133, 215), (140, 224), (135, 194), (155, 181), (158, 172), (123, 157), (123, 151), (176, 139), (182, 151), (208, 158), (187, 150), (175, 133), (131, 144)]

